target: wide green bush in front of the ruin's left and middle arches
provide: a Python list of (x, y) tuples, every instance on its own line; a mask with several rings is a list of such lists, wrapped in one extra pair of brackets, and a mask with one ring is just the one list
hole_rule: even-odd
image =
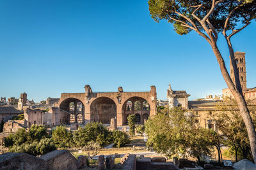
[(78, 131), (74, 133), (76, 145), (83, 147), (89, 141), (97, 142), (101, 147), (104, 147), (112, 141), (111, 132), (98, 122), (86, 124), (84, 128), (79, 127)]

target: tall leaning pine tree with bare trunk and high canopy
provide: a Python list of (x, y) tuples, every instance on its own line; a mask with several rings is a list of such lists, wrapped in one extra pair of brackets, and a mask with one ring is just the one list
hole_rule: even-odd
[[(234, 95), (240, 113), (246, 125), (253, 160), (256, 162), (256, 134), (255, 127), (250, 117), (248, 106), (244, 100), (241, 88), (239, 71), (234, 55), (231, 38), (247, 27), (256, 18), (256, 0), (149, 0), (150, 15), (157, 22), (167, 20), (175, 31), (180, 34), (188, 34), (191, 31), (202, 36), (212, 48), (220, 65), (221, 74), (227, 83), (228, 89)], [(234, 82), (228, 74), (225, 60), (218, 46), (218, 36), (223, 34), (227, 41), (230, 54), (231, 67), (234, 72)]]

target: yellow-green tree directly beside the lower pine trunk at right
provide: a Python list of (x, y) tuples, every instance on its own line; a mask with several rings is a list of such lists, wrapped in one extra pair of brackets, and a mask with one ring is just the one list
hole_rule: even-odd
[[(250, 102), (248, 102), (250, 104)], [(252, 160), (250, 152), (250, 141), (246, 132), (246, 126), (241, 117), (237, 103), (234, 99), (224, 99), (216, 106), (216, 112), (211, 117), (216, 122), (220, 132), (225, 136), (225, 145), (234, 148), (236, 162), (238, 161), (239, 149), (243, 152), (244, 159)], [(255, 110), (255, 108), (250, 108)], [(256, 118), (252, 114), (253, 123), (255, 124)]]

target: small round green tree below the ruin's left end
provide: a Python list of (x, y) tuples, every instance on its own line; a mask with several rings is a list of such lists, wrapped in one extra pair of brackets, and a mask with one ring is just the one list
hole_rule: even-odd
[(57, 148), (70, 147), (73, 143), (72, 133), (67, 131), (65, 126), (57, 126), (54, 131), (52, 131), (52, 140), (54, 141)]

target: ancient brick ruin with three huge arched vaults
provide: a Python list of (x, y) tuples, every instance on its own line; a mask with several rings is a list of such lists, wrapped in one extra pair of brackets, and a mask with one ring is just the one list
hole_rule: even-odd
[(149, 92), (124, 92), (118, 87), (117, 92), (92, 92), (90, 85), (85, 85), (83, 93), (62, 93), (58, 103), (51, 108), (52, 124), (86, 124), (102, 122), (110, 124), (116, 118), (118, 126), (127, 124), (129, 114), (136, 115), (136, 123), (141, 124), (148, 117), (155, 115), (156, 87)]

